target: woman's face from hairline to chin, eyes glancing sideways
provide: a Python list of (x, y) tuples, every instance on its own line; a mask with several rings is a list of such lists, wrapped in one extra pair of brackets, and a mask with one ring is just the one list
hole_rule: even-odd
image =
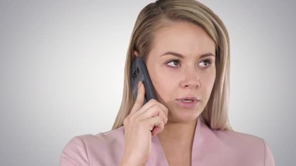
[[(168, 108), (168, 121), (188, 122), (202, 113), (216, 67), (215, 43), (201, 27), (174, 22), (157, 31), (146, 65), (157, 100)], [(199, 101), (184, 106), (178, 99), (185, 97)]]

